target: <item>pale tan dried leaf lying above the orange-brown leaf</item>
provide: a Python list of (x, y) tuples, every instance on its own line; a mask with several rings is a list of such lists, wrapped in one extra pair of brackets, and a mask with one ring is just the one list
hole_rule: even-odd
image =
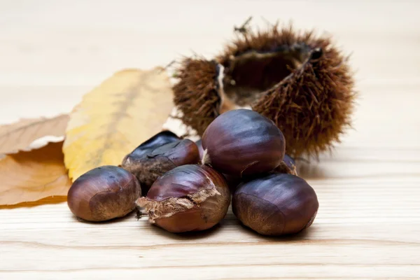
[[(69, 116), (55, 118), (23, 119), (18, 123), (0, 126), (0, 154), (30, 150), (34, 141), (43, 137), (46, 142), (57, 137), (64, 137)], [(59, 139), (62, 141), (63, 139)]]

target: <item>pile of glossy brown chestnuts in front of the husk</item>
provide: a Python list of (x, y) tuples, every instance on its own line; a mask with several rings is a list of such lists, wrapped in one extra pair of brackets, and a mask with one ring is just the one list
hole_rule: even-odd
[[(295, 175), (283, 134), (248, 109), (218, 116), (194, 143), (163, 131), (125, 156), (71, 186), (69, 208), (86, 221), (125, 216), (136, 207), (169, 232), (207, 230), (232, 211), (262, 235), (288, 235), (309, 227), (316, 193)], [(145, 196), (141, 196), (141, 195)]]

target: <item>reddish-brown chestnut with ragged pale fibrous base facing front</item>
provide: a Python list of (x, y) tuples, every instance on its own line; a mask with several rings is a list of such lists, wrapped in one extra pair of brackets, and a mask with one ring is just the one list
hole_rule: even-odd
[(160, 176), (136, 204), (151, 223), (169, 232), (207, 230), (228, 212), (230, 191), (213, 168), (183, 165)]

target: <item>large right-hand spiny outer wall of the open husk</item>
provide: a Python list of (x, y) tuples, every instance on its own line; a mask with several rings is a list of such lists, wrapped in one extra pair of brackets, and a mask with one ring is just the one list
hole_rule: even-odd
[(270, 118), (286, 138), (286, 153), (300, 156), (327, 151), (351, 123), (353, 80), (330, 42), (315, 48), (302, 66), (267, 90), (253, 110)]

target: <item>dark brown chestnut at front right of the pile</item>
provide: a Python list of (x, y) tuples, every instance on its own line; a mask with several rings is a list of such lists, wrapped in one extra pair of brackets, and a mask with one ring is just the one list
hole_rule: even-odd
[(239, 184), (232, 211), (241, 223), (261, 235), (290, 235), (311, 225), (318, 198), (300, 177), (268, 174)]

